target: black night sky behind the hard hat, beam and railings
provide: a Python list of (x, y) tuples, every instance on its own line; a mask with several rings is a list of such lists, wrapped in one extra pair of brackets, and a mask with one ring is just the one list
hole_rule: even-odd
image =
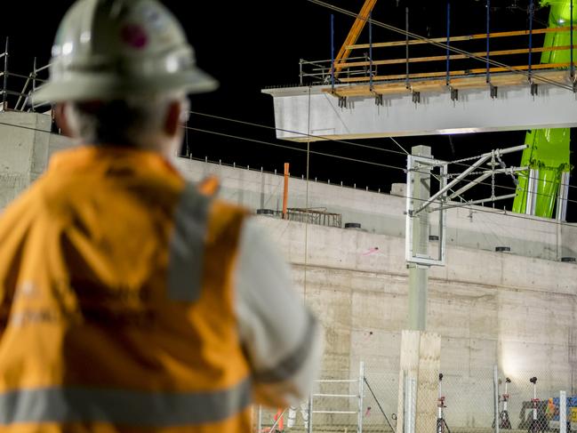
[[(20, 1), (4, 0), (0, 44), (10, 37), (10, 69), (12, 72), (28, 74), (33, 60), (39, 65), (48, 61), (52, 38), (60, 17), (72, 4), (71, 0)], [(360, 11), (363, 0), (328, 0), (350, 11)], [(293, 85), (299, 82), (299, 60), (330, 59), (330, 17), (335, 13), (335, 44), (337, 50), (344, 41), (354, 19), (331, 12), (307, 0), (269, 0), (268, 2), (212, 2), (165, 0), (172, 12), (182, 21), (190, 42), (196, 48), (197, 63), (220, 80), (220, 89), (205, 95), (194, 96), (191, 107), (195, 111), (216, 116), (229, 117), (256, 124), (274, 125), (272, 99), (260, 92), (268, 86)], [(524, 30), (529, 27), (529, 0), (492, 0), (491, 30)], [(538, 4), (538, 2), (535, 2)], [(446, 0), (419, 2), (413, 0), (379, 0), (373, 11), (373, 19), (387, 22), (400, 28), (405, 27), (405, 7), (410, 9), (410, 29), (422, 36), (446, 36)], [(484, 33), (485, 0), (453, 0), (451, 34), (453, 36)], [(549, 8), (537, 7), (533, 28), (546, 27)], [(383, 28), (373, 27), (373, 41), (384, 42), (404, 39)], [(359, 42), (368, 42), (365, 28)], [(495, 49), (524, 48), (524, 38), (510, 38), (493, 42)], [(462, 45), (468, 51), (483, 51), (485, 41), (479, 44)], [(542, 46), (542, 36), (534, 36), (535, 46)], [(541, 44), (541, 45), (540, 45)], [(403, 48), (404, 50), (404, 48)], [(421, 46), (412, 52), (415, 56), (439, 55), (436, 48)], [(400, 58), (401, 52), (375, 52), (375, 59), (384, 56)], [(537, 61), (539, 57), (537, 57)], [(526, 64), (523, 56), (501, 57), (510, 65)], [(428, 65), (428, 71), (444, 70), (445, 65)], [(461, 60), (462, 68), (483, 68), (477, 60)], [(404, 68), (404, 66), (403, 66)], [(437, 69), (436, 69), (437, 68)], [(414, 69), (418, 72), (418, 69)], [(381, 72), (381, 70), (380, 70)], [(388, 69), (388, 73), (396, 73)], [(22, 83), (15, 79), (11, 83), (16, 90)], [(243, 124), (234, 124), (204, 116), (193, 115), (189, 125), (197, 128), (223, 132), (229, 135), (263, 140), (293, 147), (302, 145), (275, 139), (275, 133)], [(453, 160), (475, 156), (492, 148), (507, 148), (523, 144), (525, 131), (480, 133), (449, 136), (400, 138), (399, 143), (410, 151), (414, 145), (432, 147), (433, 155)], [(376, 148), (400, 150), (389, 139), (358, 141)], [(325, 141), (311, 144), (312, 150), (339, 156), (370, 160), (381, 164), (405, 166), (405, 156), (378, 150), (351, 147), (347, 144)], [(186, 147), (183, 148), (186, 152)], [(264, 144), (220, 137), (204, 132), (188, 133), (188, 151), (191, 156), (223, 163), (264, 167), (265, 171), (282, 171), (283, 163), (291, 163), (291, 173), (301, 176), (306, 170), (306, 155), (290, 149), (274, 148)], [(573, 160), (573, 156), (572, 156)], [(508, 165), (519, 164), (520, 153), (508, 156)], [(574, 164), (574, 162), (573, 162)], [(390, 184), (405, 181), (400, 170), (335, 159), (327, 156), (310, 157), (310, 178), (318, 180), (341, 180), (357, 187), (389, 191)], [(513, 186), (507, 177), (498, 178), (498, 183)], [(577, 184), (572, 180), (572, 184)], [(488, 196), (490, 189), (479, 187), (469, 198)], [(497, 191), (499, 193), (500, 191)], [(501, 194), (509, 194), (502, 190)], [(574, 196), (573, 188), (570, 199)], [(510, 209), (511, 203), (507, 204)], [(503, 203), (500, 204), (502, 207)], [(577, 204), (569, 204), (569, 221), (577, 220)]]

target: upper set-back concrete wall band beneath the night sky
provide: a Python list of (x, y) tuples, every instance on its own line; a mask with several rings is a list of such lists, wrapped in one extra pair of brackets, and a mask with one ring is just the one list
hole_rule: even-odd
[[(190, 180), (200, 180), (214, 174), (222, 182), (221, 194), (236, 204), (252, 210), (283, 208), (283, 176), (178, 158), (175, 164)], [(279, 167), (279, 172), (282, 167)], [(359, 188), (341, 188), (340, 185), (289, 180), (289, 207), (326, 209), (342, 214), (345, 222), (359, 222), (367, 232), (405, 237), (405, 189), (394, 185), (397, 196), (366, 191)], [(494, 251), (497, 246), (509, 246), (511, 252), (541, 259), (558, 260), (577, 255), (577, 225), (558, 225), (555, 221), (507, 212), (490, 207), (467, 206), (447, 211), (448, 245), (474, 250)], [(437, 234), (437, 217), (431, 214), (431, 235)]]

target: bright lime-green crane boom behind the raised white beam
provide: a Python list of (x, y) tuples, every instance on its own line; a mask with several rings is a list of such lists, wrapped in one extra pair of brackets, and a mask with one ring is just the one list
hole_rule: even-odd
[[(577, 0), (541, 0), (541, 6), (550, 5), (549, 28), (568, 27), (571, 23), (573, 1), (573, 26), (577, 24)], [(573, 43), (576, 43), (573, 32)], [(544, 47), (571, 45), (571, 32), (548, 33)], [(574, 50), (573, 50), (574, 52)], [(571, 50), (543, 52), (541, 63), (569, 63)], [(539, 129), (527, 132), (521, 166), (539, 171), (534, 214), (551, 218), (557, 201), (559, 184), (563, 172), (571, 170), (569, 128)], [(525, 213), (529, 173), (518, 176), (517, 196), (513, 212)]]

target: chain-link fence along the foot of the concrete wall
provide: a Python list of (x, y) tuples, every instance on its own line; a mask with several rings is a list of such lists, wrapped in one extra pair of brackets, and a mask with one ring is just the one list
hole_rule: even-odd
[[(493, 365), (445, 371), (441, 366), (441, 372), (441, 380), (426, 385), (426, 395), (434, 397), (419, 400), (424, 410), (415, 408), (416, 389), (407, 394), (407, 381), (399, 387), (398, 371), (359, 363), (351, 365), (349, 371), (324, 372), (314, 383), (312, 403), (309, 399), (293, 411), (255, 408), (254, 431), (396, 433), (399, 389), (405, 396), (403, 418), (412, 428), (399, 426), (398, 433), (490, 433), (496, 430), (495, 418), (500, 432), (564, 433), (561, 391), (566, 394), (565, 431), (577, 429), (577, 396), (573, 395), (571, 372), (549, 368), (497, 371), (495, 376)], [(413, 421), (407, 411), (413, 412)]]

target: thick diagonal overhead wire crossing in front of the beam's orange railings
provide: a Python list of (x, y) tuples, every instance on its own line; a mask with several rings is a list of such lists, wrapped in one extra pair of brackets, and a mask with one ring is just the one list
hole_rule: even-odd
[(375, 26), (377, 26), (377, 27), (386, 28), (386, 29), (388, 29), (388, 30), (390, 30), (390, 31), (393, 31), (393, 32), (396, 32), (396, 33), (400, 33), (401, 35), (409, 36), (409, 37), (412, 37), (413, 39), (417, 39), (417, 40), (426, 42), (427, 44), (435, 45), (435, 46), (437, 46), (437, 47), (439, 47), (439, 48), (443, 48), (443, 49), (445, 49), (445, 50), (450, 50), (450, 51), (452, 51), (452, 52), (457, 52), (457, 53), (459, 53), (459, 54), (462, 54), (462, 55), (467, 56), (469, 59), (483, 61), (485, 64), (486, 64), (486, 63), (489, 63), (489, 64), (491, 64), (491, 65), (493, 65), (493, 66), (496, 66), (496, 67), (499, 67), (499, 68), (506, 68), (507, 70), (509, 70), (509, 72), (513, 72), (513, 73), (515, 73), (515, 74), (520, 74), (520, 75), (526, 76), (528, 79), (532, 79), (532, 78), (533, 78), (533, 79), (537, 79), (537, 80), (539, 80), (539, 81), (541, 81), (541, 82), (543, 82), (543, 83), (555, 85), (555, 86), (557, 86), (557, 87), (560, 87), (560, 88), (563, 88), (563, 89), (566, 89), (566, 90), (569, 90), (569, 91), (573, 92), (573, 86), (570, 86), (570, 85), (568, 85), (568, 84), (563, 84), (563, 83), (560, 83), (560, 82), (555, 81), (555, 80), (551, 80), (551, 79), (549, 79), (549, 78), (547, 78), (547, 77), (545, 77), (545, 76), (539, 76), (539, 75), (537, 75), (537, 74), (534, 74), (533, 72), (529, 73), (529, 72), (527, 72), (527, 71), (524, 71), (524, 70), (521, 70), (521, 69), (514, 68), (514, 67), (512, 67), (512, 66), (509, 66), (509, 65), (507, 65), (506, 63), (501, 63), (500, 61), (492, 60), (492, 59), (490, 59), (490, 58), (488, 58), (488, 57), (482, 57), (482, 56), (479, 56), (479, 55), (477, 55), (477, 54), (475, 54), (475, 53), (473, 53), (473, 52), (468, 52), (468, 51), (465, 51), (465, 50), (461, 50), (461, 48), (456, 48), (456, 47), (451, 46), (451, 45), (443, 44), (442, 42), (436, 42), (436, 41), (430, 39), (429, 37), (421, 36), (421, 35), (418, 35), (418, 34), (416, 34), (416, 33), (413, 33), (413, 32), (407, 31), (407, 30), (404, 30), (403, 28), (397, 28), (397, 27), (395, 27), (395, 26), (392, 26), (392, 25), (390, 25), (390, 24), (387, 24), (387, 23), (384, 23), (384, 22), (381, 22), (381, 21), (373, 20), (373, 19), (371, 19), (371, 18), (366, 18), (366, 19), (365, 19), (365, 18), (361, 17), (361, 16), (360, 16), (358, 13), (356, 13), (356, 12), (352, 12), (352, 11), (349, 11), (349, 10), (347, 10), (347, 9), (344, 9), (344, 8), (341, 8), (341, 7), (338, 7), (338, 6), (335, 6), (335, 5), (333, 5), (333, 4), (329, 4), (329, 3), (323, 2), (322, 0), (307, 0), (307, 1), (308, 1), (309, 3), (312, 3), (312, 4), (317, 4), (317, 5), (319, 5), (319, 6), (323, 6), (323, 7), (327, 8), (327, 9), (330, 9), (330, 10), (332, 10), (332, 11), (334, 11), (334, 12), (340, 12), (340, 13), (342, 13), (342, 14), (344, 14), (344, 15), (349, 15), (350, 17), (357, 18), (357, 19), (359, 19), (359, 20), (365, 20), (366, 22), (371, 22), (373, 25), (375, 25)]

